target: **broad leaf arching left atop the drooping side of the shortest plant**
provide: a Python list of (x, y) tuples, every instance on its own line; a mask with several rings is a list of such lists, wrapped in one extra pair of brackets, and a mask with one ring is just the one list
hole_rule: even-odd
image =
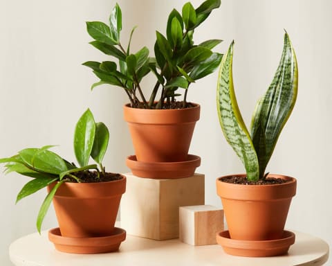
[(68, 170), (64, 159), (50, 150), (40, 152), (40, 149), (37, 148), (27, 148), (21, 150), (19, 155), (24, 164), (37, 172), (59, 175), (60, 172)]

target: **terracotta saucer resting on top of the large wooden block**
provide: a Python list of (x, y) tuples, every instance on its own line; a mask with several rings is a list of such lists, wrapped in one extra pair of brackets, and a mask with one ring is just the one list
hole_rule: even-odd
[(188, 154), (187, 161), (175, 162), (143, 162), (137, 161), (135, 155), (127, 157), (127, 166), (137, 177), (153, 179), (176, 179), (191, 177), (201, 165), (201, 157)]

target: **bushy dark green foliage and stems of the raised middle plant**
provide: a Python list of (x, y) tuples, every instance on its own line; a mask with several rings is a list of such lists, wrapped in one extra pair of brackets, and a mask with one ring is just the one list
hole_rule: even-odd
[[(83, 63), (100, 79), (91, 89), (98, 85), (114, 85), (124, 89), (131, 107), (169, 109), (174, 108), (176, 96), (181, 96), (178, 88), (183, 88), (185, 91), (180, 107), (187, 107), (189, 85), (213, 73), (221, 62), (222, 55), (212, 52), (220, 39), (209, 39), (201, 44), (194, 44), (193, 39), (194, 30), (220, 4), (220, 0), (207, 0), (195, 9), (192, 3), (187, 2), (182, 12), (173, 9), (167, 19), (166, 36), (156, 31), (154, 56), (150, 56), (146, 46), (136, 53), (131, 51), (131, 37), (136, 27), (131, 30), (127, 47), (122, 44), (122, 12), (118, 4), (111, 11), (109, 24), (86, 22), (86, 29), (94, 39), (90, 44), (111, 56), (109, 61)], [(149, 90), (147, 97), (143, 94), (141, 81), (150, 72), (156, 76), (156, 85)]]

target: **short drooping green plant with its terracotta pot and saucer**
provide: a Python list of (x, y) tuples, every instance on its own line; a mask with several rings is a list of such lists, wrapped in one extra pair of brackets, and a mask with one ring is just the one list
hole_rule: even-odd
[[(48, 188), (48, 195), (37, 215), (37, 230), (53, 201), (59, 229), (48, 236), (55, 247), (69, 253), (102, 253), (118, 250), (125, 231), (114, 227), (120, 199), (126, 188), (126, 177), (106, 172), (102, 159), (109, 142), (104, 123), (95, 123), (89, 109), (75, 127), (74, 150), (79, 166), (69, 163), (49, 149), (26, 148), (6, 163), (6, 173), (17, 172), (32, 177), (17, 195), (17, 202)], [(95, 164), (89, 164), (92, 158)]]

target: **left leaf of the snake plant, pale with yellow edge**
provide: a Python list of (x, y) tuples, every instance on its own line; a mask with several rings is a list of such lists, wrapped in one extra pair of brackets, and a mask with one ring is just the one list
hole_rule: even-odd
[(234, 42), (223, 56), (217, 84), (216, 105), (219, 122), (225, 139), (230, 143), (246, 168), (247, 179), (259, 178), (259, 163), (249, 132), (243, 122), (237, 98), (234, 93), (232, 77), (232, 58)]

